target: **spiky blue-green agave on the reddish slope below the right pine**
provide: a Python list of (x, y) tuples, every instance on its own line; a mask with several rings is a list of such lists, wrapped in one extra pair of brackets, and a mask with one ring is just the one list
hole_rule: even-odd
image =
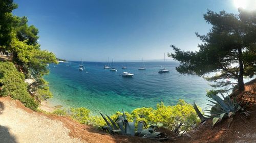
[(207, 104), (211, 106), (211, 110), (205, 110), (205, 111), (208, 111), (207, 113), (209, 113), (210, 115), (203, 115), (199, 111), (194, 101), (194, 109), (196, 110), (197, 115), (202, 122), (204, 122), (207, 119), (212, 119), (212, 127), (214, 127), (214, 125), (220, 122), (223, 118), (225, 117), (230, 118), (233, 115), (235, 115), (235, 113), (238, 111), (240, 111), (240, 113), (243, 113), (246, 117), (249, 116), (250, 112), (244, 111), (247, 104), (245, 104), (244, 106), (241, 106), (242, 101), (237, 102), (236, 98), (231, 99), (229, 95), (225, 97), (222, 93), (221, 93), (221, 96), (223, 97), (223, 99), (220, 98), (218, 95), (210, 96), (212, 100), (208, 100), (208, 101), (213, 103), (213, 105)]

